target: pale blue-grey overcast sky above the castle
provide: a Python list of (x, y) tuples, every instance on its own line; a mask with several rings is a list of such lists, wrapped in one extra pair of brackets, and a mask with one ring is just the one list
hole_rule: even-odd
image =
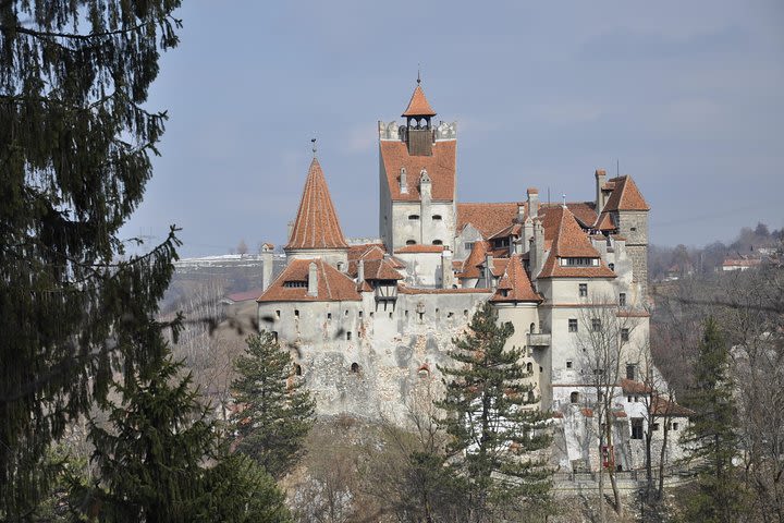
[(347, 236), (378, 236), (378, 120), (416, 85), (458, 122), (461, 202), (595, 197), (632, 174), (651, 242), (784, 226), (784, 2), (187, 0), (170, 120), (123, 233), (185, 256), (285, 242), (310, 138)]

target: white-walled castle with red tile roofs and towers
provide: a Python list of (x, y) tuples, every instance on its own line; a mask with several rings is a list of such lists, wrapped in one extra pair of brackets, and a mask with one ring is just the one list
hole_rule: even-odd
[[(649, 337), (649, 207), (635, 181), (596, 170), (592, 202), (543, 203), (531, 187), (518, 202), (458, 203), (457, 126), (433, 117), (417, 81), (404, 123), (378, 124), (378, 242), (346, 242), (314, 155), (286, 266), (257, 300), (259, 328), (290, 348), (320, 415), (399, 418), (489, 301), (514, 325), (509, 343), (525, 348), (531, 397), (567, 424), (596, 401), (581, 336), (601, 328), (593, 311), (610, 309), (632, 323), (618, 336), (636, 348), (618, 362), (625, 398)], [(564, 429), (564, 461), (590, 460), (578, 436)]]

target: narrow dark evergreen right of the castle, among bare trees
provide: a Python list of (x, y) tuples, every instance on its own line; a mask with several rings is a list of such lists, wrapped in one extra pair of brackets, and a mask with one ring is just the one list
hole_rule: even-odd
[(696, 415), (682, 436), (699, 467), (699, 492), (690, 500), (689, 521), (736, 521), (742, 484), (733, 457), (738, 452), (730, 352), (715, 320), (709, 317), (694, 366), (695, 382), (687, 402)]

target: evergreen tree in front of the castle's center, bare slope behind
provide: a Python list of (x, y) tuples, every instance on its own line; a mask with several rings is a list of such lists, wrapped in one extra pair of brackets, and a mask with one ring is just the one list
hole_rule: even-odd
[(446, 393), (438, 405), (451, 436), (450, 466), (464, 483), (469, 521), (532, 521), (534, 507), (548, 504), (550, 472), (531, 452), (544, 449), (547, 415), (529, 397), (534, 386), (520, 364), (523, 351), (504, 349), (514, 333), (498, 323), (489, 303), (479, 309), (462, 339), (453, 340), (450, 356), (456, 366), (439, 367)]

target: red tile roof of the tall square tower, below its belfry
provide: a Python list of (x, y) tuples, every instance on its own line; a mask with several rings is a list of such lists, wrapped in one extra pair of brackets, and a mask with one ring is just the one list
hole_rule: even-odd
[[(430, 177), (432, 199), (454, 200), (456, 141), (432, 144), (432, 156), (411, 156), (404, 142), (381, 141), (381, 161), (387, 172), (387, 184), (393, 200), (418, 202), (419, 173), (422, 169)], [(406, 170), (407, 193), (400, 192), (400, 170)]]

